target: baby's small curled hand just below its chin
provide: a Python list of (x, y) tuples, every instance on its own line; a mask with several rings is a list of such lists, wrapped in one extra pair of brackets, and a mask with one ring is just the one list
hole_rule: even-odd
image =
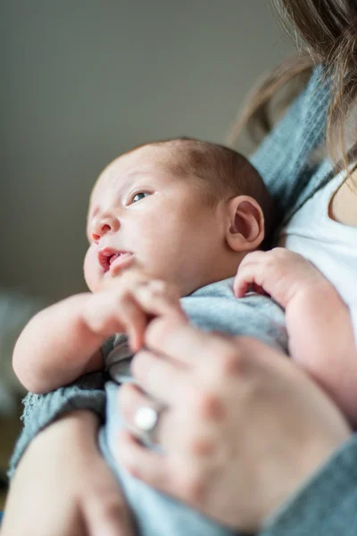
[(130, 348), (137, 352), (151, 317), (162, 314), (184, 315), (179, 290), (136, 269), (124, 272), (89, 297), (84, 319), (91, 331), (103, 337), (127, 333)]

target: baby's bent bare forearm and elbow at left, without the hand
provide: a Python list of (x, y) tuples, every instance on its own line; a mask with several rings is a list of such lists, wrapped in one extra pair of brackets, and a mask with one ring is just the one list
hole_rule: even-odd
[(95, 295), (68, 297), (37, 313), (16, 342), (12, 365), (26, 389), (45, 393), (103, 366), (105, 337), (87, 322)]

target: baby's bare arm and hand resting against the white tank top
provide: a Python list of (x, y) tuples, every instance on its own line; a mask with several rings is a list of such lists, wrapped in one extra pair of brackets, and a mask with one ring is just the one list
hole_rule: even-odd
[(236, 296), (251, 284), (286, 310), (290, 355), (356, 424), (357, 349), (349, 309), (336, 289), (302, 255), (281, 247), (246, 255)]

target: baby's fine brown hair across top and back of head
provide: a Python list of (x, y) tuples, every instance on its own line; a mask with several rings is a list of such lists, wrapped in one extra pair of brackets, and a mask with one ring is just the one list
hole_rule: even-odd
[(159, 156), (162, 166), (203, 186), (212, 206), (239, 195), (253, 197), (264, 214), (265, 234), (270, 235), (274, 217), (272, 200), (261, 175), (245, 156), (218, 143), (187, 137), (162, 139), (132, 150), (147, 146), (167, 147), (169, 151)]

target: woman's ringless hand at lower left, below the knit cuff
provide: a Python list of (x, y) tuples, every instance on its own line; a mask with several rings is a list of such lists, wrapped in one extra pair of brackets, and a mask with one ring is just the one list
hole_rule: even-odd
[(111, 470), (96, 447), (97, 418), (62, 417), (29, 445), (12, 480), (1, 535), (132, 536)]

